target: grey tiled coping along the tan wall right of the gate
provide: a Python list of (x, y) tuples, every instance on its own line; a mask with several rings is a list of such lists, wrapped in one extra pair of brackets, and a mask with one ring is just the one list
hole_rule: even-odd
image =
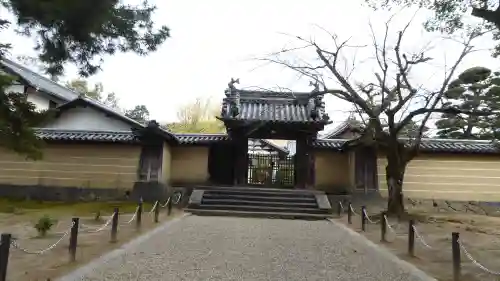
[[(407, 139), (401, 139), (405, 141)], [(341, 151), (347, 139), (318, 139), (313, 143), (316, 148)], [(470, 154), (500, 154), (500, 146), (491, 141), (483, 140), (453, 140), (453, 139), (422, 139), (421, 152), (435, 153), (470, 153)]]

